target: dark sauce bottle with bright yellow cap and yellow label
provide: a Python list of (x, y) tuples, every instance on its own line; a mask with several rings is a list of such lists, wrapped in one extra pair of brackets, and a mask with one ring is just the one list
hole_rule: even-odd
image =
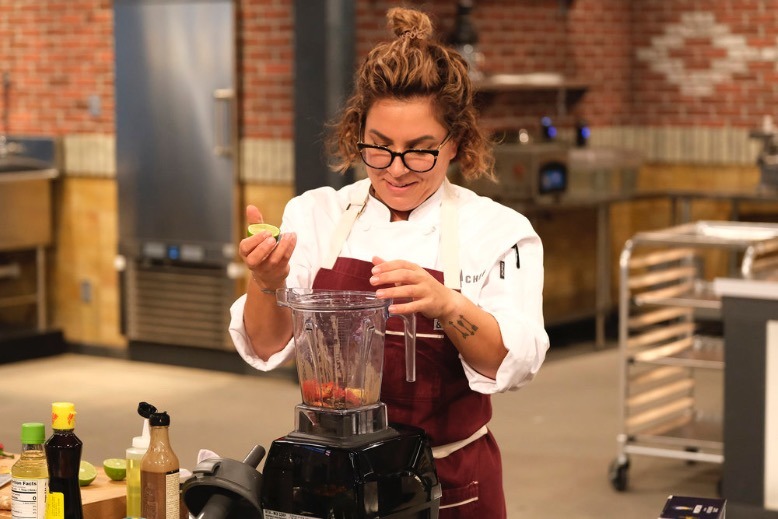
[(49, 496), (47, 517), (53, 519), (82, 519), (81, 488), (78, 470), (81, 465), (83, 443), (73, 432), (76, 409), (70, 402), (51, 404), (52, 435), (46, 440), (46, 462), (49, 467)]

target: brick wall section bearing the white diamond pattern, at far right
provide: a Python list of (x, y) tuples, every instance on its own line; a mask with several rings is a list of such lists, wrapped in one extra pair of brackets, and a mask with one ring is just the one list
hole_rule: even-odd
[(755, 127), (774, 113), (776, 2), (633, 4), (632, 124)]

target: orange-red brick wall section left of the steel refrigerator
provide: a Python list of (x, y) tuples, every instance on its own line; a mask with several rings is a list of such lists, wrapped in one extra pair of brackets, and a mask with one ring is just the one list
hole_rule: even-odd
[(112, 20), (109, 0), (0, 0), (8, 133), (113, 133)]

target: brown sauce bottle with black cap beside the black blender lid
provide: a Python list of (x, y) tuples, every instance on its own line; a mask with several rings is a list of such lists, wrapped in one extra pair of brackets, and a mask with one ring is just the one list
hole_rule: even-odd
[(140, 464), (141, 514), (145, 519), (179, 519), (179, 463), (170, 446), (170, 416), (149, 417), (151, 439)]

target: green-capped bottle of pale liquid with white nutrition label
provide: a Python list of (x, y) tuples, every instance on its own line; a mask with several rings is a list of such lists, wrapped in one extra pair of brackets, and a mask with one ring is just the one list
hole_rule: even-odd
[(22, 453), (11, 467), (11, 517), (44, 519), (49, 469), (43, 442), (46, 429), (42, 423), (22, 424)]

